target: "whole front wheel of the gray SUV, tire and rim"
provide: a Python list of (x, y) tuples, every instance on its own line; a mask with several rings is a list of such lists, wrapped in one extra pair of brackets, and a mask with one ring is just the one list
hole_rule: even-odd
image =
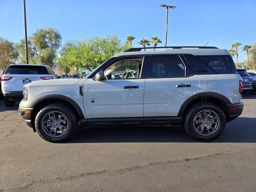
[(78, 118), (74, 110), (65, 104), (49, 104), (36, 115), (35, 128), (44, 140), (63, 142), (76, 132)]

